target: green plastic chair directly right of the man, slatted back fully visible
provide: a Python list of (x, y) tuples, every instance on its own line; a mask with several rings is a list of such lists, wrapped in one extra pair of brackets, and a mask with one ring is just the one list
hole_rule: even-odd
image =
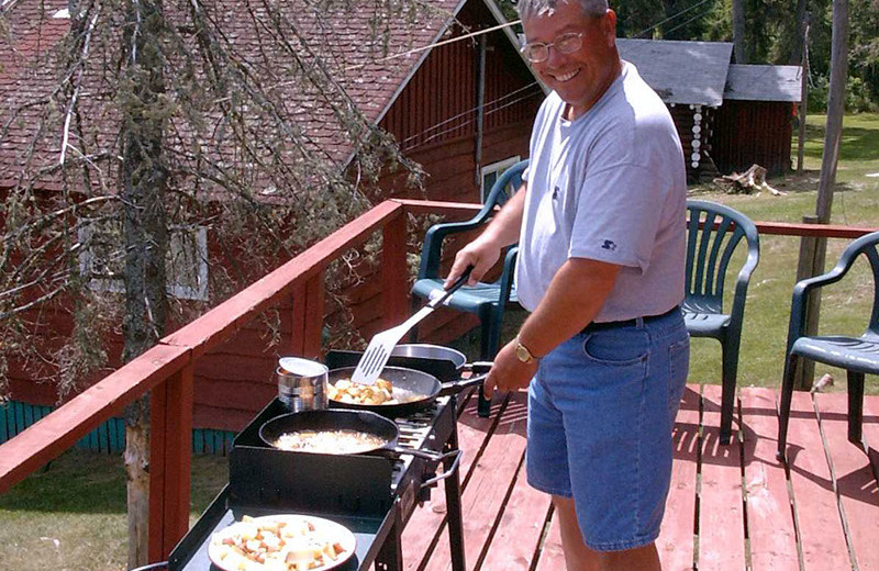
[[(690, 336), (711, 337), (721, 344), (723, 396), (720, 432), (721, 443), (730, 444), (745, 299), (750, 275), (760, 259), (760, 239), (754, 223), (728, 206), (688, 200), (687, 212), (687, 281), (681, 307), (683, 321)], [(738, 271), (732, 307), (725, 312), (723, 293), (726, 272), (739, 245), (747, 247), (747, 257)]]

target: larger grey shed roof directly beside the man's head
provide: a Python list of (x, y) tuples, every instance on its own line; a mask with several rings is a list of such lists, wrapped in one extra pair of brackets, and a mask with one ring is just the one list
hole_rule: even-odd
[(620, 37), (616, 47), (666, 103), (723, 103), (733, 44)]

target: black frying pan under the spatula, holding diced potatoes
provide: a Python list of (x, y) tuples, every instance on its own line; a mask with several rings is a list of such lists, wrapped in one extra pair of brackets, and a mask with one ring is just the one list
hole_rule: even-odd
[[(332, 369), (327, 377), (330, 384), (335, 384), (340, 379), (351, 379), (354, 367)], [(333, 408), (355, 408), (358, 411), (372, 411), (385, 416), (397, 417), (429, 407), (434, 399), (441, 394), (456, 394), (468, 387), (480, 384), (486, 374), (478, 374), (469, 379), (442, 383), (433, 374), (404, 369), (402, 367), (385, 367), (380, 379), (390, 381), (393, 385), (394, 404), (356, 404), (340, 401), (330, 401)]]

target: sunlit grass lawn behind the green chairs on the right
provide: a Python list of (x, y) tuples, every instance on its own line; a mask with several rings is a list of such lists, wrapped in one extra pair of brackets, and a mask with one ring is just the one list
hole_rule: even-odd
[[(787, 192), (775, 197), (725, 194), (710, 188), (691, 190), (692, 197), (722, 202), (747, 214), (754, 221), (801, 222), (815, 213), (817, 203), (821, 153), (826, 117), (814, 115), (806, 121), (804, 172), (776, 178), (769, 183)], [(794, 135), (792, 155), (797, 155)], [(877, 175), (871, 177), (869, 175)], [(845, 117), (836, 187), (833, 197), (832, 223), (879, 227), (879, 115), (861, 114)], [(739, 354), (738, 385), (778, 388), (781, 383), (790, 296), (797, 277), (799, 238), (760, 237), (760, 262), (752, 276), (745, 305), (745, 327)], [(848, 240), (833, 239), (827, 246), (826, 268), (832, 268)], [(820, 333), (861, 334), (872, 303), (872, 277), (869, 265), (860, 260), (843, 281), (824, 290)], [(713, 339), (693, 339), (690, 360), (693, 381), (720, 382), (720, 344)], [(831, 390), (845, 390), (845, 372), (816, 365), (815, 376), (830, 372), (836, 384)], [(879, 393), (876, 377), (867, 377), (867, 391)]]

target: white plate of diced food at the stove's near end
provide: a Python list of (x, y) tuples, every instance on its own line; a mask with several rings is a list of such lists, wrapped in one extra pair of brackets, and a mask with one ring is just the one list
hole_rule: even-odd
[(223, 571), (324, 571), (354, 555), (345, 526), (310, 515), (244, 516), (216, 531), (208, 557)]

